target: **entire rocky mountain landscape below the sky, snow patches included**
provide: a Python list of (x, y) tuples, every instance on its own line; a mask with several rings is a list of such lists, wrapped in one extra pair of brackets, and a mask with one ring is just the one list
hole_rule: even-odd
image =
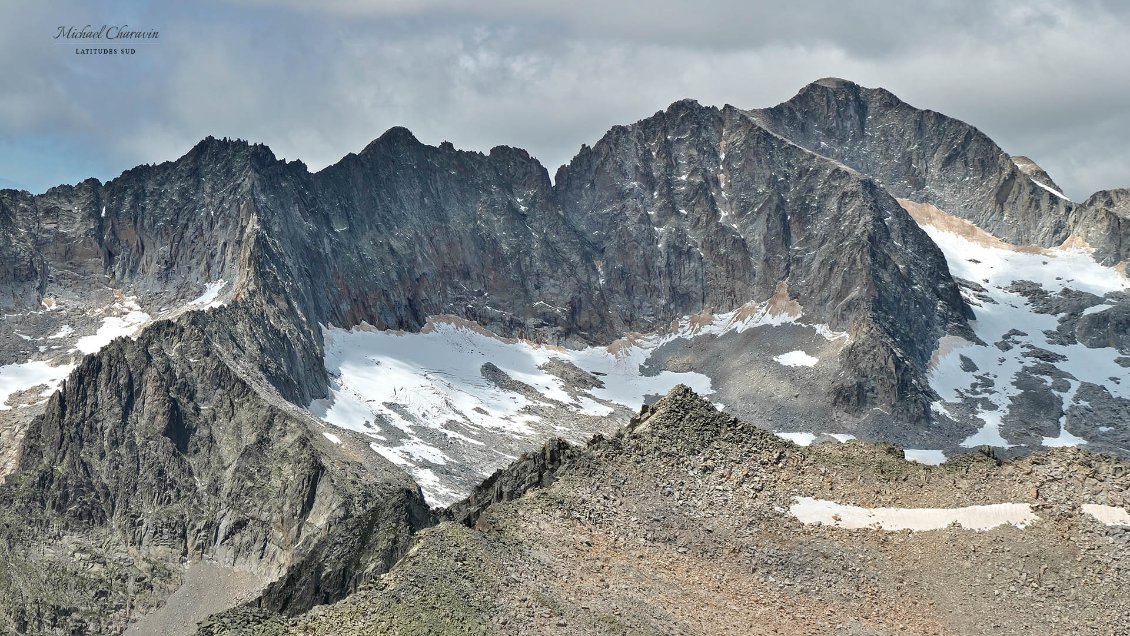
[(0, 633), (1124, 631), (1128, 215), (834, 78), (2, 190)]

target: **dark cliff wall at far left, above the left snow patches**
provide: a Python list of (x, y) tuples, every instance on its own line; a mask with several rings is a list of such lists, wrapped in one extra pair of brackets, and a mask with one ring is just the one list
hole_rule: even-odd
[(208, 138), (176, 162), (105, 184), (92, 178), (38, 197), (5, 191), (0, 207), (43, 260), (40, 293), (49, 282), (104, 284), (168, 303), (190, 285), (235, 278), (251, 225), (243, 204), (254, 166), (268, 158), (263, 146)]

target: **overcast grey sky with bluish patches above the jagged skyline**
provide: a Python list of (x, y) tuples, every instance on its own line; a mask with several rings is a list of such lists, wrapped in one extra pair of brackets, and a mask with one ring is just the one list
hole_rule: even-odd
[[(1130, 186), (1130, 3), (90, 0), (0, 6), (0, 188), (42, 192), (237, 137), (313, 169), (393, 125), (550, 174), (671, 102), (883, 86), (1028, 155), (1076, 200)], [(159, 29), (76, 55), (60, 26)], [(121, 46), (115, 44), (115, 46)]]

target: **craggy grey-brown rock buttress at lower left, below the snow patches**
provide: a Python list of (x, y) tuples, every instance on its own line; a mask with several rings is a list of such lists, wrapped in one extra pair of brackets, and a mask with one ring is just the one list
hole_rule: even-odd
[(432, 523), (418, 486), (249, 384), (203, 319), (87, 356), (28, 429), (7, 491), (70, 533), (113, 529), (147, 559), (279, 580), (285, 591), (258, 601), (271, 611), (333, 601), (391, 567)]

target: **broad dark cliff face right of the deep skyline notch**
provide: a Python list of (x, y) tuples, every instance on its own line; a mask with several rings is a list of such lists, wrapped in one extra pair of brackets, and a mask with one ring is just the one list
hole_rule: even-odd
[(556, 189), (633, 324), (732, 310), (784, 284), (810, 320), (852, 331), (833, 397), (849, 409), (921, 417), (933, 342), (965, 329), (940, 252), (889, 193), (737, 108), (679, 102), (617, 127)]

